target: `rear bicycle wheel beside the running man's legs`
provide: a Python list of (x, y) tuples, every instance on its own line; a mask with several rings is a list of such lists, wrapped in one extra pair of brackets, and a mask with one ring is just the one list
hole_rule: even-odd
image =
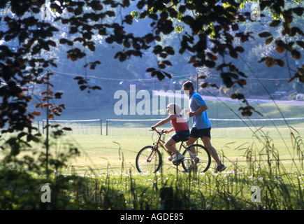
[(184, 168), (184, 171), (188, 172), (188, 168), (194, 164), (194, 158), (192, 158), (189, 153), (190, 148), (195, 148), (196, 158), (199, 159), (199, 161), (195, 162), (196, 172), (206, 172), (211, 164), (211, 156), (208, 149), (200, 144), (193, 144), (191, 146), (188, 146), (182, 153), (182, 155), (184, 155), (184, 160), (182, 160), (182, 167)]

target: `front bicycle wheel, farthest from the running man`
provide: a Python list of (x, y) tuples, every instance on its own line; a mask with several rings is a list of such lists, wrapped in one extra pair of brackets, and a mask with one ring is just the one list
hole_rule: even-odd
[(136, 156), (136, 169), (140, 173), (155, 173), (161, 167), (161, 153), (153, 146), (145, 146)]

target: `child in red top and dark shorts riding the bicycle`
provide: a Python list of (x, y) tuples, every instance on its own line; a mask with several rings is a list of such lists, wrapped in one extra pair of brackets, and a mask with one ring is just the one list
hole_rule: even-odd
[(173, 164), (176, 162), (180, 162), (184, 160), (184, 155), (182, 155), (176, 148), (175, 144), (180, 141), (187, 141), (189, 138), (189, 127), (184, 120), (184, 118), (180, 115), (182, 112), (182, 109), (180, 109), (180, 106), (178, 104), (168, 104), (167, 111), (169, 113), (168, 118), (165, 118), (164, 120), (161, 120), (156, 125), (153, 125), (151, 128), (154, 130), (156, 127), (159, 127), (161, 125), (164, 125), (171, 121), (172, 128), (171, 130), (166, 130), (166, 133), (175, 131), (175, 134), (173, 134), (168, 141), (166, 141), (165, 147), (173, 153)]

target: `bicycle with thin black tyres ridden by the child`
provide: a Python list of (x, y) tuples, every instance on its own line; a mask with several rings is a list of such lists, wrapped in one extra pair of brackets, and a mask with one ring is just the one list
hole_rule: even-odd
[[(168, 155), (170, 155), (173, 159), (173, 154), (168, 151), (163, 145), (166, 142), (161, 139), (161, 136), (163, 134), (166, 134), (166, 132), (164, 130), (162, 130), (161, 132), (157, 130), (154, 131), (159, 134), (157, 141), (153, 143), (153, 146), (143, 147), (136, 155), (136, 169), (140, 173), (155, 173), (159, 171), (162, 164), (159, 146), (161, 146), (161, 148), (164, 148), (166, 153), (168, 153)], [(179, 151), (181, 151), (182, 148), (184, 148), (184, 152), (182, 153), (182, 155), (184, 155), (184, 160), (182, 160), (181, 162), (177, 162), (174, 165), (178, 166), (182, 164), (184, 172), (206, 172), (209, 169), (211, 163), (211, 156), (205, 146), (202, 146), (200, 144), (193, 144), (191, 146), (187, 146), (187, 144), (182, 141), (180, 144)]]

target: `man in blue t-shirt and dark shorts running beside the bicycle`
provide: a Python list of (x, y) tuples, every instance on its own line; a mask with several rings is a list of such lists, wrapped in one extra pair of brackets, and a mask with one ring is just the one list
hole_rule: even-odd
[(187, 81), (182, 87), (184, 92), (189, 96), (190, 111), (187, 114), (189, 118), (192, 118), (193, 123), (187, 145), (190, 146), (191, 144), (194, 144), (197, 139), (201, 139), (212, 158), (217, 162), (215, 172), (222, 172), (226, 167), (222, 164), (221, 160), (219, 160), (217, 151), (211, 144), (211, 123), (207, 113), (208, 106), (205, 101), (203, 101), (201, 95), (194, 91), (194, 85), (191, 81)]

